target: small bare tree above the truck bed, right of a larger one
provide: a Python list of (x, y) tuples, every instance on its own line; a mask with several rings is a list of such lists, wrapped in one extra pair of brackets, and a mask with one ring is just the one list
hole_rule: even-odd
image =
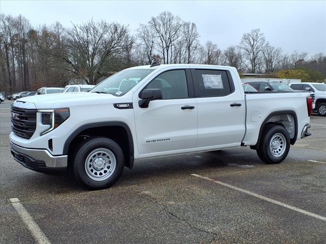
[(275, 48), (271, 46), (269, 42), (266, 43), (265, 48), (263, 50), (263, 63), (265, 73), (274, 72), (275, 68), (281, 62), (281, 54), (281, 48)]

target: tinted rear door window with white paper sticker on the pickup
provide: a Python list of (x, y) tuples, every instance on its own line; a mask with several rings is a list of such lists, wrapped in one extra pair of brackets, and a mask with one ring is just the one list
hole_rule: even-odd
[(196, 97), (221, 97), (233, 92), (225, 70), (192, 70)]

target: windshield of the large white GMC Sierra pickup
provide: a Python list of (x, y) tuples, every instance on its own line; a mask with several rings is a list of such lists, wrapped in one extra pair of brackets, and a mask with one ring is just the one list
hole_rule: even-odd
[(154, 69), (123, 70), (103, 80), (95, 86), (91, 93), (107, 93), (117, 97), (125, 95), (135, 85), (142, 81)]

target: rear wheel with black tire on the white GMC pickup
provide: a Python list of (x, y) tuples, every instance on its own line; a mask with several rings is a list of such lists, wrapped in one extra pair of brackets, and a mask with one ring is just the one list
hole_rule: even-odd
[[(276, 146), (270, 148), (272, 139), (276, 139)], [(278, 140), (277, 140), (278, 139)], [(285, 145), (285, 146), (284, 146)], [(266, 164), (279, 164), (289, 153), (290, 150), (290, 136), (284, 127), (279, 125), (265, 126), (260, 144), (257, 146), (258, 157)], [(277, 154), (280, 155), (277, 155)]]

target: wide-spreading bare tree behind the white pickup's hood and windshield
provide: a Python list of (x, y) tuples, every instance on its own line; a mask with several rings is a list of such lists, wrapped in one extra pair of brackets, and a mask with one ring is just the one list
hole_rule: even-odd
[(67, 33), (69, 56), (66, 62), (71, 64), (75, 74), (88, 77), (94, 84), (107, 74), (109, 58), (123, 48), (127, 34), (127, 27), (118, 23), (90, 20), (74, 24)]

